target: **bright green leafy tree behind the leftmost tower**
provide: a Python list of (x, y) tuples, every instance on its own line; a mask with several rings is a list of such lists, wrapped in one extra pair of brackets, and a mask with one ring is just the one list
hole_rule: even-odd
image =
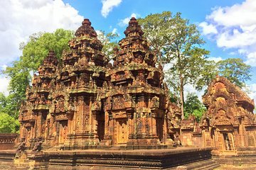
[(13, 62), (4, 71), (11, 78), (9, 96), (6, 97), (8, 107), (4, 113), (18, 118), (21, 101), (26, 97), (26, 86), (31, 82), (31, 73), (36, 72), (49, 50), (54, 50), (60, 59), (63, 50), (68, 49), (68, 41), (73, 37), (73, 31), (57, 29), (54, 33), (33, 34), (27, 43), (21, 43), (20, 49), (23, 51), (20, 60)]

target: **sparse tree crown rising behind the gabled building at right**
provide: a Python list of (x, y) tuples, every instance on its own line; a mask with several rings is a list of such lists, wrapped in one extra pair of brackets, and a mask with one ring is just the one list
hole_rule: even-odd
[(227, 60), (220, 60), (217, 62), (218, 74), (222, 77), (226, 77), (231, 83), (245, 87), (245, 81), (250, 80), (251, 67), (240, 58), (229, 58)]

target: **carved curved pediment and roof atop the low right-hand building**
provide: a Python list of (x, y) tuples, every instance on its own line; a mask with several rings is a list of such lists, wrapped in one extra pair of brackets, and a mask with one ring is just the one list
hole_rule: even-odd
[(206, 115), (210, 126), (239, 125), (241, 121), (245, 124), (255, 123), (252, 116), (253, 100), (224, 77), (216, 77), (210, 83), (203, 103), (208, 108)]

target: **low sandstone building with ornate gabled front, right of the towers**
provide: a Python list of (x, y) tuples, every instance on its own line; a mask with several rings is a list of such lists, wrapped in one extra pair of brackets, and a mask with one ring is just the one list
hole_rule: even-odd
[(203, 96), (203, 103), (208, 109), (201, 122), (206, 147), (214, 147), (218, 154), (235, 154), (241, 148), (255, 148), (254, 101), (238, 86), (224, 77), (216, 77)]

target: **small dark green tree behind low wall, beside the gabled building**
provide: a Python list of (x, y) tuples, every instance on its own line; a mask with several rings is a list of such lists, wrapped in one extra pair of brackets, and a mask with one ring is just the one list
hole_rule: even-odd
[(206, 112), (206, 107), (199, 101), (195, 93), (188, 93), (184, 103), (184, 115), (188, 118), (189, 115), (195, 115), (196, 121), (199, 122), (203, 113)]

